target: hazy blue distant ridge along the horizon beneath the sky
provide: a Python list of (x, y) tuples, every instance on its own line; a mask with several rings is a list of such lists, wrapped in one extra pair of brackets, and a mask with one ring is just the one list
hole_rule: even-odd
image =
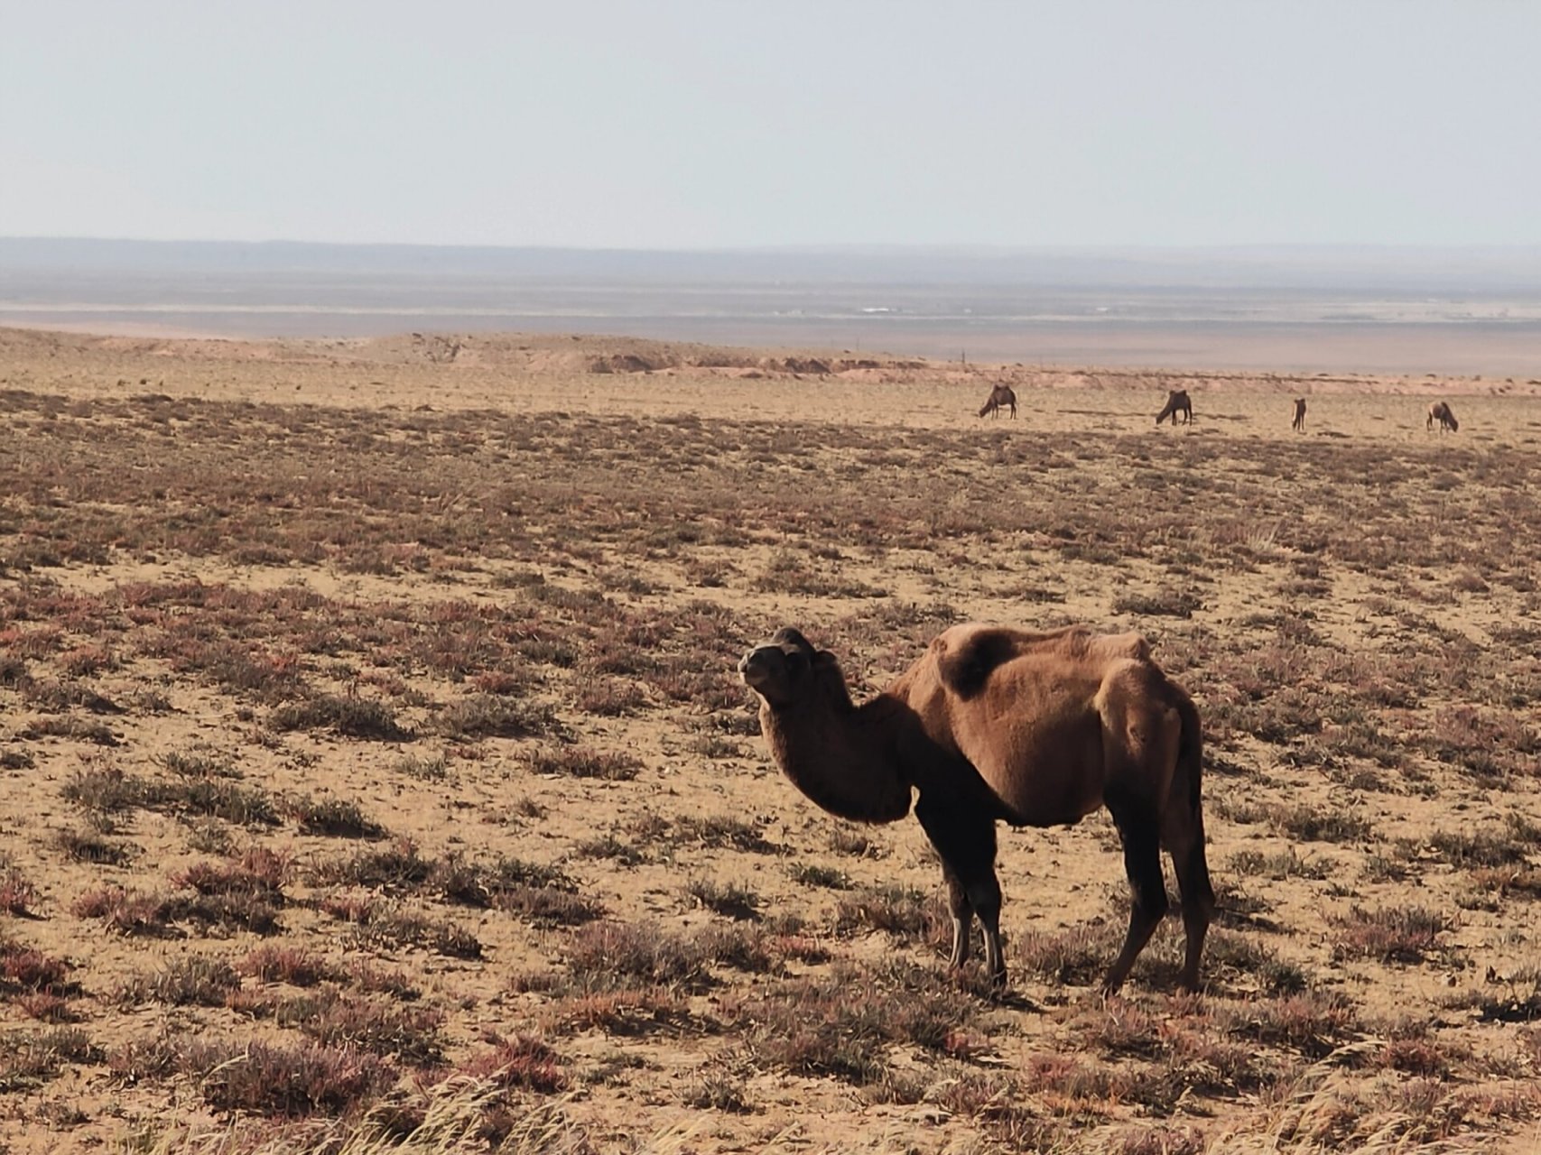
[[(1365, 286), (1541, 299), (1541, 246), (576, 249), (239, 240), (0, 237), (0, 279), (26, 273), (394, 273), (510, 279), (974, 283), (1039, 286)], [(3, 283), (3, 282), (0, 282)]]

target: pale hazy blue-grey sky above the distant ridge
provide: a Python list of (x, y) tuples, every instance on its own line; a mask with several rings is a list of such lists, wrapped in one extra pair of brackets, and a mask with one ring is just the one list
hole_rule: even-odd
[(1530, 0), (0, 0), (0, 236), (1533, 245), (1538, 49)]

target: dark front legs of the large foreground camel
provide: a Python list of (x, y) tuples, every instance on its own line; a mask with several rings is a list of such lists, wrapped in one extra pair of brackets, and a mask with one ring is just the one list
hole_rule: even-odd
[(969, 956), (969, 933), (979, 915), (985, 930), (985, 972), (991, 983), (1005, 986), (1006, 959), (1000, 942), (1000, 879), (995, 878), (995, 819), (968, 807), (937, 802), (925, 793), (915, 802), (926, 838), (942, 859), (952, 912), (951, 966), (962, 967)]

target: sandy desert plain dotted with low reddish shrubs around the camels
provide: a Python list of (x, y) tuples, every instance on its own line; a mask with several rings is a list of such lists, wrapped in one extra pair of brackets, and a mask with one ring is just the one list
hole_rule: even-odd
[[(1536, 1150), (1538, 393), (0, 330), (3, 1146)], [(1002, 830), (995, 993), (770, 764), (754, 641), (969, 619), (1194, 696), (1202, 995), (1099, 996), (1103, 813)]]

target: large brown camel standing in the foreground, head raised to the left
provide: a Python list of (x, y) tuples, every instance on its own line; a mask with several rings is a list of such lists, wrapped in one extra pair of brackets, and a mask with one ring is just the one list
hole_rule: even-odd
[(1106, 805), (1134, 902), (1103, 990), (1122, 986), (1167, 913), (1162, 849), (1182, 892), (1182, 984), (1199, 987), (1214, 910), (1199, 713), (1137, 633), (955, 625), (863, 705), (852, 704), (835, 656), (794, 628), (750, 650), (738, 671), (760, 695), (760, 728), (777, 764), (820, 807), (897, 822), (918, 793), (915, 818), (948, 884), (952, 966), (968, 959), (979, 915), (986, 970), (1006, 979), (995, 819), (1062, 825)]

